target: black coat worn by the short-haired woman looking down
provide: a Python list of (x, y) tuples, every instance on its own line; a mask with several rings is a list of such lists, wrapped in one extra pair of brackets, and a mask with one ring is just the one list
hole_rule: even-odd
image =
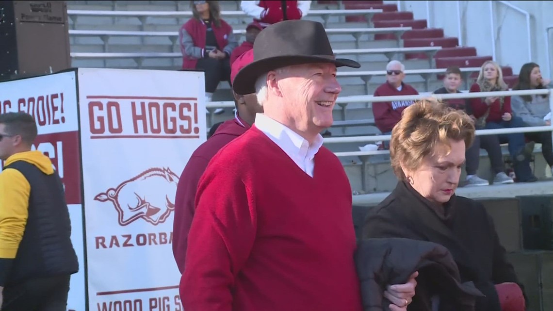
[[(476, 311), (501, 311), (494, 284), (520, 284), (499, 243), (492, 218), (481, 203), (462, 196), (453, 195), (442, 208), (408, 183), (399, 182), (382, 203), (368, 211), (363, 237), (404, 237), (447, 247), (457, 263), (461, 282), (474, 282), (486, 296), (477, 299)], [(431, 276), (419, 276), (418, 294), (409, 310), (428, 310), (429, 293), (419, 291), (432, 282)]]

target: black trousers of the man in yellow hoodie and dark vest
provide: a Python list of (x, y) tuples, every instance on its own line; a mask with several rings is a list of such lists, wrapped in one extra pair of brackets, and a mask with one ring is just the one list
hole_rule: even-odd
[(28, 279), (4, 287), (2, 311), (65, 311), (70, 275)]

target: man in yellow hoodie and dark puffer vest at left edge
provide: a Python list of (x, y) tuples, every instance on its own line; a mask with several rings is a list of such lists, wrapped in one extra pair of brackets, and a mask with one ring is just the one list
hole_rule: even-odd
[(64, 185), (50, 158), (31, 151), (37, 132), (28, 113), (0, 115), (3, 311), (65, 311), (71, 274), (79, 271)]

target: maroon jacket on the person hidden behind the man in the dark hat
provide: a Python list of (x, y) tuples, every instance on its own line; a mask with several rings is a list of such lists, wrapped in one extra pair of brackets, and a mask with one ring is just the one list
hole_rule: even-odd
[(217, 131), (207, 141), (192, 153), (186, 167), (182, 170), (179, 184), (176, 188), (175, 217), (173, 221), (173, 255), (180, 273), (184, 271), (188, 231), (194, 217), (196, 189), (200, 177), (204, 174), (211, 158), (234, 138), (242, 135), (249, 125), (236, 118), (228, 120), (217, 128)]

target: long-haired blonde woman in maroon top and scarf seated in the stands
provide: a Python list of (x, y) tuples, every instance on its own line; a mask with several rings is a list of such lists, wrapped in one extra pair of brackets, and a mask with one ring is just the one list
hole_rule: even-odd
[[(470, 92), (505, 91), (507, 84), (503, 81), (501, 68), (494, 61), (486, 61), (478, 74), (476, 83), (471, 86)], [(486, 97), (470, 99), (471, 109), (476, 117), (477, 129), (524, 127), (520, 117), (513, 116), (510, 96)], [(538, 180), (530, 168), (530, 157), (534, 150), (533, 145), (525, 148), (523, 133), (499, 134), (501, 142), (509, 143), (509, 153), (513, 160), (513, 167), (517, 182), (535, 182)]]

